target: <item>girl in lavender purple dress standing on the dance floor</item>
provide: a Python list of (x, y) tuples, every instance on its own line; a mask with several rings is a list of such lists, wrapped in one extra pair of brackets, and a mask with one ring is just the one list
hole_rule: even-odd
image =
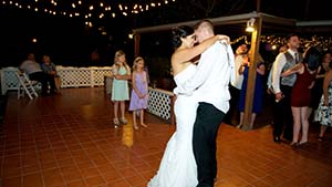
[(135, 129), (138, 129), (136, 123), (136, 115), (139, 116), (139, 122), (143, 127), (147, 127), (144, 124), (144, 110), (147, 108), (147, 75), (144, 71), (144, 59), (136, 58), (133, 66), (133, 91), (129, 104), (129, 111), (133, 111), (133, 126)]

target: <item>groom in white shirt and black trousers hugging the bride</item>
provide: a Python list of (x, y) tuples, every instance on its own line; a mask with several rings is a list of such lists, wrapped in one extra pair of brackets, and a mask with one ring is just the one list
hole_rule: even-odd
[[(199, 43), (215, 35), (212, 23), (208, 20), (199, 21), (195, 34)], [(194, 94), (199, 102), (193, 133), (197, 187), (212, 187), (217, 176), (216, 137), (229, 110), (228, 85), (235, 76), (234, 52), (228, 42), (216, 42), (201, 53), (197, 73), (174, 91), (175, 94)]]

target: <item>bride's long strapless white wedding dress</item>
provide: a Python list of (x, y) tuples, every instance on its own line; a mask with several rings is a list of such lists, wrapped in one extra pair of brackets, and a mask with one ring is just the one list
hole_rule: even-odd
[[(190, 80), (196, 65), (188, 65), (174, 80), (176, 85)], [(176, 132), (167, 143), (157, 174), (147, 184), (148, 187), (196, 187), (197, 167), (193, 153), (193, 126), (198, 107), (194, 96), (178, 95), (174, 112)]]

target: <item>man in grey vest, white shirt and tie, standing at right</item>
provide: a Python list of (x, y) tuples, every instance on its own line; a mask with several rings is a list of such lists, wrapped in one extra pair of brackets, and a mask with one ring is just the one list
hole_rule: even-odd
[[(297, 74), (281, 77), (281, 73), (302, 62), (302, 54), (299, 53), (300, 39), (297, 34), (287, 38), (288, 50), (279, 53), (273, 62), (271, 85), (276, 96), (273, 108), (273, 141), (280, 143), (280, 136), (292, 141), (293, 117), (291, 112), (291, 92), (297, 81)], [(284, 129), (283, 129), (284, 127)]]

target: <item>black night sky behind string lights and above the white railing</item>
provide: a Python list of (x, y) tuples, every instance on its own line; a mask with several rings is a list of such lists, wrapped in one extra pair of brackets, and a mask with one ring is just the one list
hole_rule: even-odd
[[(113, 61), (113, 53), (117, 49), (125, 50), (128, 59), (132, 60), (133, 40), (127, 38), (132, 29), (203, 19), (206, 17), (206, 12), (195, 4), (207, 1), (177, 0), (165, 8), (157, 8), (139, 15), (106, 19), (96, 22), (93, 28), (86, 27), (82, 18), (51, 15), (0, 4), (1, 67), (20, 64), (30, 51), (35, 52), (38, 58), (46, 53), (51, 55), (53, 62), (73, 66), (110, 65)], [(215, 9), (208, 13), (208, 18), (248, 13), (256, 8), (256, 0), (220, 0), (216, 2)], [(305, 2), (309, 3), (309, 11), (305, 11), (305, 7), (308, 7)], [(325, 3), (323, 0), (269, 0), (261, 1), (261, 9), (266, 13), (298, 20), (331, 20), (330, 7), (324, 6)], [(98, 30), (101, 27), (107, 32), (107, 35), (101, 34)], [(33, 38), (38, 39), (37, 43), (31, 42)], [(154, 38), (154, 35), (146, 38), (149, 39), (149, 43), (142, 43), (146, 45), (146, 49), (142, 49), (144, 53), (168, 55), (168, 51), (165, 53), (156, 51), (154, 48), (154, 45), (168, 48), (167, 34), (162, 38)], [(95, 49), (101, 53), (102, 62), (90, 62), (90, 54)]]

